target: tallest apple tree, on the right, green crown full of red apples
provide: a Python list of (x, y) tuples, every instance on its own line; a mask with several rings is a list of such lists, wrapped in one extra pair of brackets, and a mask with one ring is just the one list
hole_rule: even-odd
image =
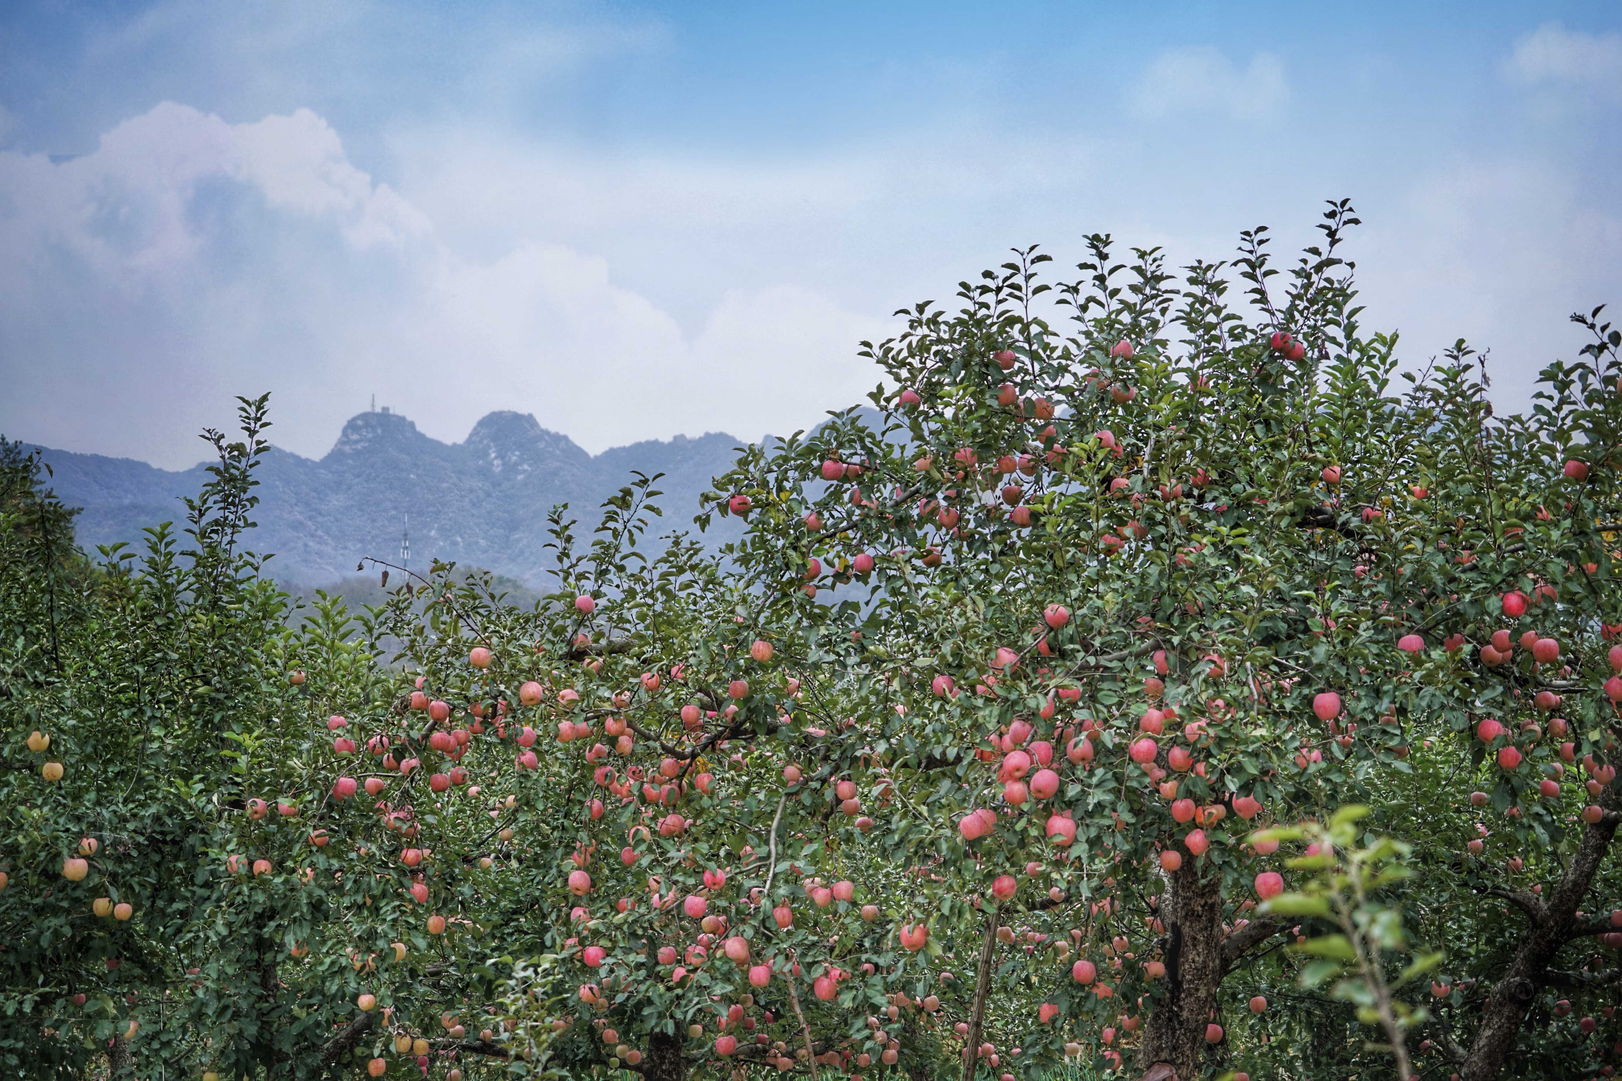
[[(1022, 1060), (1113, 1058), (1144, 1024), (1144, 1068), (1265, 1066), (1208, 1029), (1286, 930), (1247, 916), (1285, 870), (1255, 825), (1377, 804), (1421, 765), (1448, 778), (1429, 807), (1479, 784), (1495, 848), (1533, 854), (1463, 862), (1489, 895), (1616, 828), (1617, 335), (1591, 326), (1497, 421), (1463, 345), (1398, 378), (1361, 329), (1353, 224), (1333, 204), (1283, 288), (1262, 230), (1179, 280), (1095, 237), (1049, 287), (1022, 251), (866, 348), (878, 425), (722, 478), (759, 588), (856, 595), (795, 603), (863, 650), (847, 708), (897, 793), (890, 844), (929, 869), (918, 903), (968, 935), (998, 922), (976, 896), (1022, 883), (999, 919), (1027, 950), (993, 969), (994, 1045)], [(1530, 639), (1483, 656), (1499, 630)]]

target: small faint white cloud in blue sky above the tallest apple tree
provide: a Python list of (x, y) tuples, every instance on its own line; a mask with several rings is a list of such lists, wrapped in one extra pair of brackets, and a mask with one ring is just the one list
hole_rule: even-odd
[(1241, 68), (1212, 45), (1166, 49), (1139, 73), (1127, 94), (1132, 112), (1145, 120), (1174, 115), (1272, 120), (1288, 100), (1285, 65), (1275, 53), (1259, 52)]

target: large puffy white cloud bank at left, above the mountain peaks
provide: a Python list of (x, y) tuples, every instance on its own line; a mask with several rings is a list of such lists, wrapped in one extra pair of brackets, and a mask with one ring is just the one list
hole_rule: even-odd
[(853, 355), (881, 326), (811, 288), (725, 285), (684, 332), (537, 232), (453, 248), (310, 110), (164, 104), (70, 162), (0, 152), (0, 429), (183, 465), (230, 395), (271, 389), (276, 441), (320, 455), (376, 391), (441, 439), (516, 408), (600, 451), (788, 431), (876, 382)]

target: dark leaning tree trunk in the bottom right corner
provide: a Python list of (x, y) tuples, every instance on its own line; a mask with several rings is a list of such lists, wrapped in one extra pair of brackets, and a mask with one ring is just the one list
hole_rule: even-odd
[(1606, 810), (1604, 817), (1583, 828), (1577, 856), (1549, 895), (1547, 906), (1531, 893), (1510, 896), (1526, 912), (1526, 934), (1521, 935), (1515, 959), (1510, 961), (1504, 979), (1492, 985), (1492, 993), (1481, 1008), (1481, 1028), (1476, 1029), (1476, 1039), (1458, 1070), (1461, 1081), (1492, 1081), (1504, 1070), (1504, 1062), (1515, 1049), (1515, 1039), (1526, 1021), (1526, 1010), (1547, 982), (1549, 964), (1560, 946), (1573, 937), (1577, 906), (1593, 885), (1594, 872), (1599, 870), (1599, 862), (1617, 831), (1619, 802), (1622, 801), (1617, 784), (1612, 783), (1599, 799), (1599, 805)]

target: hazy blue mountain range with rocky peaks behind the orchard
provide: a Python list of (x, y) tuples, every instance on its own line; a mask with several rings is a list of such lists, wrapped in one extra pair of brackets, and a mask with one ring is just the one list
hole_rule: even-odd
[[(271, 447), (256, 473), (258, 528), (248, 546), (274, 553), (266, 570), (284, 583), (324, 585), (355, 574), (363, 556), (399, 562), (409, 532), (410, 566), (430, 559), (477, 566), (522, 583), (543, 585), (547, 512), (569, 504), (584, 523), (597, 506), (631, 481), (631, 472), (663, 473), (655, 502), (665, 512), (650, 535), (693, 530), (699, 494), (732, 468), (741, 441), (709, 433), (696, 439), (646, 441), (590, 455), (532, 415), (496, 412), (464, 442), (440, 442), (388, 410), (352, 417), (320, 460)], [(28, 447), (32, 449), (32, 447)], [(206, 465), (161, 470), (131, 459), (39, 447), (50, 486), (83, 507), (75, 528), (88, 551), (130, 541), (159, 522), (183, 522), (182, 496), (196, 494)], [(714, 540), (735, 523), (720, 519)], [(732, 527), (732, 528), (728, 528)], [(590, 540), (589, 528), (584, 541)]]

